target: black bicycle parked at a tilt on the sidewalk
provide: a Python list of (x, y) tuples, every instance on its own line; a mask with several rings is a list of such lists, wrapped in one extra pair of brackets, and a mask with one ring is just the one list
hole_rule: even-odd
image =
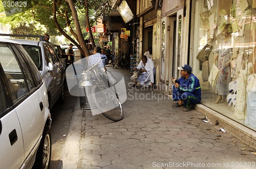
[(118, 81), (111, 80), (110, 72), (100, 69), (99, 62), (82, 73), (79, 87), (84, 86), (81, 82), (88, 83), (86, 93), (92, 95), (95, 106), (106, 118), (117, 122), (123, 118), (123, 108), (114, 86)]

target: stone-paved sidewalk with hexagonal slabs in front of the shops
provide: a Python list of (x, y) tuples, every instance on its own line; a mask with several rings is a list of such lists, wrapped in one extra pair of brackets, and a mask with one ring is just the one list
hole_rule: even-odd
[[(82, 111), (77, 168), (256, 168), (256, 152), (197, 110), (170, 107), (162, 91), (126, 81), (124, 118), (112, 122)], [(65, 168), (65, 166), (63, 166)]]

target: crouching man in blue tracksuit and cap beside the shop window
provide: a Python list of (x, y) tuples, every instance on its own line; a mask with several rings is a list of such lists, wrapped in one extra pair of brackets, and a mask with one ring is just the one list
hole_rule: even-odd
[(175, 79), (172, 77), (173, 100), (178, 103), (172, 107), (184, 107), (184, 111), (190, 111), (195, 108), (195, 104), (201, 101), (201, 87), (199, 79), (193, 74), (192, 68), (189, 65), (178, 67), (181, 78)]

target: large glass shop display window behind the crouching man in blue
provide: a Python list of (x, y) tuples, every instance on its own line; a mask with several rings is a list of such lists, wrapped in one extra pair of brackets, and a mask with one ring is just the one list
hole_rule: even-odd
[(201, 103), (256, 130), (256, 0), (195, 2)]

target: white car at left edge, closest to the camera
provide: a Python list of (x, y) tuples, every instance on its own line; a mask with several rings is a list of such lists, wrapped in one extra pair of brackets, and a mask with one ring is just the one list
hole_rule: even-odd
[(0, 168), (49, 168), (47, 89), (24, 47), (0, 38)]

